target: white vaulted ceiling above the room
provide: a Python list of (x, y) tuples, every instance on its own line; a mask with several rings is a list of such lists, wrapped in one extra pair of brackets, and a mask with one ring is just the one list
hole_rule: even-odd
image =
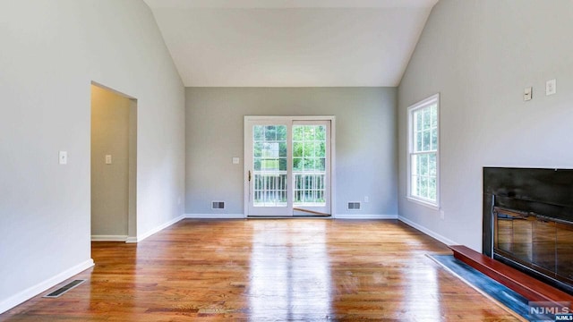
[(394, 87), (438, 0), (144, 1), (186, 87)]

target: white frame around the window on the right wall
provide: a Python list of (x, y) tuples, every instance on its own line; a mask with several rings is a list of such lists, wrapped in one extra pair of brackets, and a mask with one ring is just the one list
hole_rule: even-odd
[[(438, 114), (438, 138), (437, 138), (437, 148), (436, 148), (436, 200), (425, 199), (418, 196), (412, 195), (412, 156), (415, 154), (414, 149), (414, 113), (416, 110), (422, 109), (432, 104), (436, 104), (437, 114)], [(427, 97), (422, 101), (415, 103), (413, 106), (409, 106), (407, 109), (408, 118), (408, 129), (407, 129), (407, 156), (406, 156), (406, 182), (407, 191), (406, 198), (410, 201), (414, 201), (423, 206), (433, 209), (440, 208), (440, 93), (434, 94), (431, 97)]]

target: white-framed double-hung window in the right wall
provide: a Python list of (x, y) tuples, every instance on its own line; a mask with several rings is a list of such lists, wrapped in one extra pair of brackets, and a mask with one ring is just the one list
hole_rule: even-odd
[(438, 207), (440, 94), (408, 108), (408, 198)]

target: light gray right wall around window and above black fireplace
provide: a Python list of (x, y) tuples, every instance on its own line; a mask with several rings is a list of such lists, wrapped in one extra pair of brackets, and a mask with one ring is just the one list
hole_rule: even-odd
[[(569, 0), (434, 6), (398, 88), (400, 216), (481, 250), (483, 166), (573, 167), (571, 17)], [(444, 220), (405, 198), (406, 108), (437, 92)]]

